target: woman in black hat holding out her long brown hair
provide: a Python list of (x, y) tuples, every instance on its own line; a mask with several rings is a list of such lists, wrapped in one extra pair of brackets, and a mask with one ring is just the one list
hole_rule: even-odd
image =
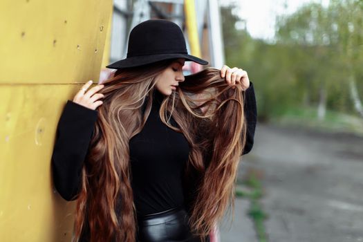
[(253, 85), (227, 66), (184, 77), (185, 61), (207, 64), (176, 24), (148, 20), (107, 66), (114, 77), (68, 100), (52, 167), (59, 194), (77, 199), (75, 240), (209, 241), (233, 205), (253, 145)]

